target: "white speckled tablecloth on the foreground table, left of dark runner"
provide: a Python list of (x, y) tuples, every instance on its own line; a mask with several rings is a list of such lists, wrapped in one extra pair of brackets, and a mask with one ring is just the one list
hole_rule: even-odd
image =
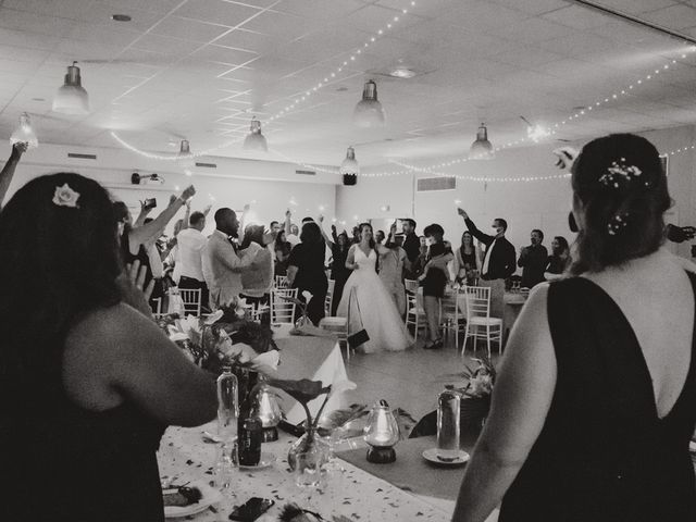
[[(166, 431), (158, 451), (163, 482), (183, 485), (204, 481), (217, 487), (215, 464), (220, 449), (216, 444), (203, 442), (203, 431), (214, 433), (215, 423), (195, 428), (170, 427)], [(263, 444), (262, 451), (275, 458), (270, 467), (234, 469), (229, 487), (222, 488), (222, 500), (212, 509), (187, 519), (197, 522), (227, 521), (234, 506), (251, 497), (273, 499), (275, 505), (268, 513), (274, 518), (290, 501), (319, 512), (328, 522), (334, 515), (360, 522), (446, 522), (451, 517), (452, 506), (428, 502), (349, 462), (338, 461), (341, 464), (339, 469), (328, 473), (325, 484), (310, 496), (295, 485), (295, 477), (287, 467), (287, 450), (294, 440), (282, 434), (277, 442)]]

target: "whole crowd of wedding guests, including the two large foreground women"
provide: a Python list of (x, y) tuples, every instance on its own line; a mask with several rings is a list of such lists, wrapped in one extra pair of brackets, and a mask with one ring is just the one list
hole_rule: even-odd
[[(22, 152), (15, 146), (0, 172), (0, 201)], [(284, 271), (291, 285), (319, 297), (315, 321), (330, 246), (336, 281), (346, 275), (344, 258), (355, 269), (346, 287), (360, 271), (374, 287), (376, 261), (384, 260), (381, 277), (420, 279), (428, 310), (450, 270), (496, 296), (515, 265), (526, 285), (536, 285), (506, 347), (453, 520), (484, 521), (499, 505), (501, 522), (696, 520), (688, 455), (696, 278), (684, 270), (693, 266), (660, 249), (671, 202), (658, 152), (633, 135), (596, 139), (573, 163), (571, 183), (572, 260), (562, 237), (548, 256), (540, 231), (515, 259), (505, 220), (486, 234), (462, 209), (467, 232), (455, 251), (437, 224), (424, 228), (423, 240), (406, 221), (403, 236), (394, 226), (380, 245), (370, 224), (352, 238), (335, 229), (327, 238), (321, 219), (300, 227), (288, 213), (285, 229), (274, 223), (266, 233), (241, 226), (227, 208), (214, 213), (209, 237), (201, 232), (206, 212), (192, 212), (176, 244), (158, 249), (194, 187), (146, 222), (133, 221), (85, 176), (32, 179), (0, 211), (5, 518), (162, 521), (160, 437), (167, 425), (213, 419), (216, 407), (214, 377), (152, 321), (147, 299), (164, 291), (156, 288), (162, 258), (176, 248), (178, 284), (206, 288), (213, 308), (238, 295), (268, 299), (273, 276)], [(538, 284), (560, 273), (560, 281)], [(438, 343), (435, 331), (428, 318), (430, 347)], [(50, 478), (40, 492), (39, 475)]]

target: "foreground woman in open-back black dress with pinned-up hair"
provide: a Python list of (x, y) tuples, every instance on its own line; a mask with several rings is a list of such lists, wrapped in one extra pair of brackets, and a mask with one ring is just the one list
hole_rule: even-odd
[(660, 158), (599, 138), (572, 187), (573, 277), (535, 287), (512, 328), (453, 520), (502, 500), (500, 522), (694, 521), (696, 278), (660, 249)]

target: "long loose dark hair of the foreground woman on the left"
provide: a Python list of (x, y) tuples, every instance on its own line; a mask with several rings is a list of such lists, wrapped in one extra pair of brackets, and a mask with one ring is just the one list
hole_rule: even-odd
[[(77, 207), (54, 202), (65, 185)], [(0, 381), (60, 377), (70, 328), (121, 300), (114, 208), (97, 182), (59, 173), (27, 183), (0, 213)]]

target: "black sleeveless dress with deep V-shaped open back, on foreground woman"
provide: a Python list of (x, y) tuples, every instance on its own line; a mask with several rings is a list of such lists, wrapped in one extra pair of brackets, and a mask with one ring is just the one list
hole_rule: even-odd
[(659, 419), (638, 340), (604, 289), (583, 277), (552, 283), (548, 321), (556, 390), (499, 522), (696, 521), (696, 332), (684, 388)]

